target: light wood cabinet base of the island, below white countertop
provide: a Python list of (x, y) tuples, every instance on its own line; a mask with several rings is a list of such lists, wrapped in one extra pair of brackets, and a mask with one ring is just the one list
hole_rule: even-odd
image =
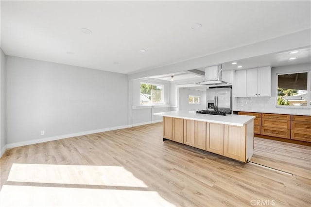
[(253, 155), (253, 125), (254, 121), (241, 127), (163, 117), (163, 138), (246, 162)]

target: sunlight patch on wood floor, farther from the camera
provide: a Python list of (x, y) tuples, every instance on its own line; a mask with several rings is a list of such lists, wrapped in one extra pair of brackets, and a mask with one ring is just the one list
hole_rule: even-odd
[(79, 184), (99, 186), (148, 186), (121, 166), (89, 165), (12, 165), (7, 181), (31, 183)]

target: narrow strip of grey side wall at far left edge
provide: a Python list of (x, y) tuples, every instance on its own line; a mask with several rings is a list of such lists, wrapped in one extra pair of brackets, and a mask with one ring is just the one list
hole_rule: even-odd
[(0, 155), (2, 155), (6, 145), (6, 55), (0, 51)]

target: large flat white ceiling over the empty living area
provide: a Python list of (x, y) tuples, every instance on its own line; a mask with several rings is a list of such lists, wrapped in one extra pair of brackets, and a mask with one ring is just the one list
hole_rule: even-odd
[[(310, 1), (1, 0), (1, 48), (129, 74), (309, 29), (310, 7)], [(191, 29), (194, 23), (202, 28)]]

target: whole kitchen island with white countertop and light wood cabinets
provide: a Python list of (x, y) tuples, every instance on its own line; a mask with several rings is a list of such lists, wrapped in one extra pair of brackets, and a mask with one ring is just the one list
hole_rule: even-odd
[(163, 140), (249, 162), (254, 149), (254, 118), (207, 115), (191, 111), (155, 113), (163, 117)]

